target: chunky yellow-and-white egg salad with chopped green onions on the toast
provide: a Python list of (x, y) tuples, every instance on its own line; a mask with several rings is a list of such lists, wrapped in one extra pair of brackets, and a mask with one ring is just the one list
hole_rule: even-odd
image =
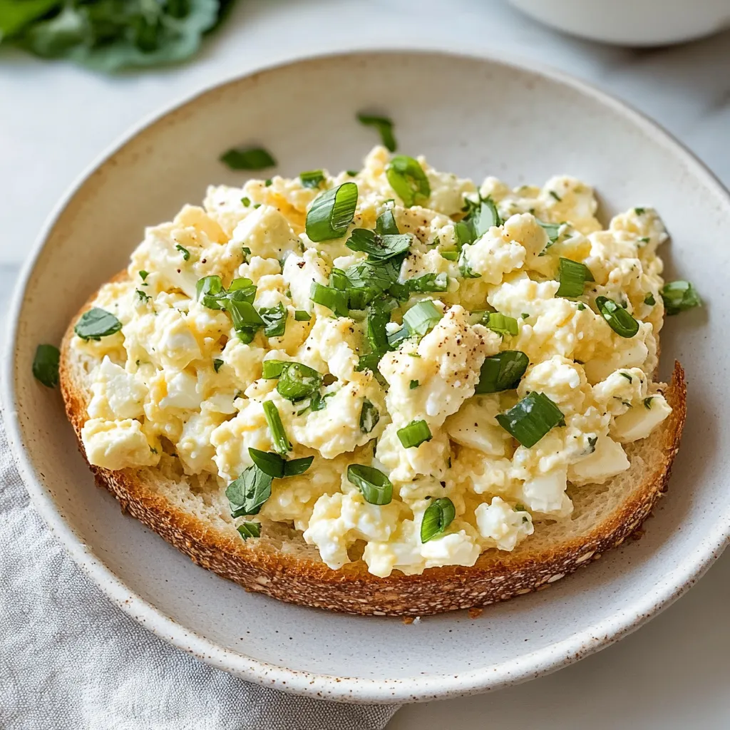
[(331, 569), (513, 550), (671, 412), (656, 338), (692, 292), (662, 280), (666, 238), (648, 207), (604, 228), (573, 177), (477, 186), (385, 147), (210, 187), (76, 325), (88, 461), (167, 454), (242, 539), (285, 523)]

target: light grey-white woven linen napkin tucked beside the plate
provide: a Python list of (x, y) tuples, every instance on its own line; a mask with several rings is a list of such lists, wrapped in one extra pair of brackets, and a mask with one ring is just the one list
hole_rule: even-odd
[(397, 709), (262, 688), (142, 629), (34, 510), (0, 420), (3, 730), (381, 730)]

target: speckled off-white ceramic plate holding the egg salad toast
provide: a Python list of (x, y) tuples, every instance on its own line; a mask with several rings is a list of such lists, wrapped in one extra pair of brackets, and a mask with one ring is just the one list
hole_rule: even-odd
[[(218, 155), (261, 142), (277, 172), (358, 165), (375, 142), (361, 109), (396, 120), (401, 150), (512, 185), (566, 172), (605, 215), (656, 205), (674, 240), (669, 277), (707, 306), (672, 318), (664, 370), (688, 374), (689, 415), (669, 496), (639, 542), (548, 591), (406, 626), (250, 595), (123, 515), (77, 453), (57, 392), (36, 383), (38, 342), (58, 342), (88, 294), (126, 265), (145, 225), (241, 183)], [(26, 268), (4, 353), (9, 436), (39, 512), (115, 603), (164, 639), (242, 677), (356, 702), (455, 696), (564, 666), (636, 629), (688, 588), (729, 534), (726, 346), (730, 201), (653, 123), (580, 82), (493, 58), (355, 53), (268, 69), (212, 88), (129, 134), (58, 207)]]

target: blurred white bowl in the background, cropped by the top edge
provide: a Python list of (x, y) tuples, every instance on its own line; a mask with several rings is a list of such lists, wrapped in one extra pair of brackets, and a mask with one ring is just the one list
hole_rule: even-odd
[(658, 46), (730, 27), (728, 0), (510, 0), (559, 31), (604, 43)]

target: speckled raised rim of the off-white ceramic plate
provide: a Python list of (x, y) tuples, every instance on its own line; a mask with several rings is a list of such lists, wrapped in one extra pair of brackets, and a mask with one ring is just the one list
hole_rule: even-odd
[[(148, 126), (161, 120), (161, 118), (164, 118), (170, 112), (186, 104), (190, 104), (198, 99), (199, 96), (203, 96), (205, 93), (220, 88), (229, 82), (234, 82), (242, 77), (251, 75), (259, 75), (265, 80), (266, 73), (275, 72), (283, 66), (296, 65), (301, 61), (378, 53), (420, 53), (471, 58), (476, 61), (485, 61), (488, 64), (507, 66), (522, 72), (528, 72), (537, 77), (542, 77), (545, 80), (565, 85), (585, 96), (590, 96), (594, 101), (618, 113), (631, 124), (640, 128), (654, 142), (664, 147), (667, 153), (674, 155), (675, 158), (680, 160), (688, 173), (699, 179), (702, 185), (714, 194), (718, 199), (718, 204), (730, 216), (730, 192), (672, 134), (669, 134), (658, 123), (650, 120), (650, 118), (635, 110), (629, 104), (626, 104), (626, 102), (620, 101), (604, 91), (600, 91), (598, 88), (583, 80), (578, 80), (569, 74), (552, 69), (544, 64), (536, 64), (532, 61), (515, 58), (512, 55), (504, 53), (491, 53), (475, 45), (466, 47), (466, 49), (462, 48), (459, 53), (453, 53), (450, 49), (439, 47), (423, 49), (407, 46), (393, 48), (389, 45), (369, 45), (356, 49), (338, 49), (326, 53), (280, 58), (268, 64), (261, 64), (253, 69), (249, 69), (243, 74), (231, 74), (229, 77), (199, 88), (193, 93), (185, 95), (183, 99), (178, 99), (174, 103), (166, 105), (162, 110), (148, 115), (140, 123), (127, 131), (126, 134), (118, 138), (80, 174), (61, 201), (55, 206), (53, 212), (50, 213), (36, 239), (31, 255), (29, 255), (20, 273), (18, 284), (16, 285), (12, 298), (12, 304), (9, 308), (6, 337), (4, 340), (5, 347), (1, 356), (0, 400), (9, 445), (34, 507), (80, 568), (91, 577), (96, 585), (99, 585), (101, 590), (109, 596), (113, 603), (131, 616), (131, 618), (134, 618), (135, 621), (141, 623), (142, 626), (150, 629), (158, 637), (172, 643), (177, 648), (207, 662), (207, 664), (239, 675), (246, 680), (260, 685), (274, 687), (292, 694), (315, 696), (323, 699), (336, 700), (338, 702), (425, 702), (431, 699), (446, 699), (493, 691), (546, 675), (549, 672), (554, 672), (564, 666), (573, 664), (575, 661), (579, 661), (591, 653), (606, 648), (632, 631), (635, 631), (650, 618), (653, 618), (653, 616), (675, 602), (721, 556), (724, 548), (730, 542), (730, 512), (718, 515), (715, 526), (699, 542), (694, 553), (687, 556), (680, 563), (675, 564), (664, 575), (663, 580), (653, 587), (653, 590), (647, 591), (642, 595), (642, 598), (631, 607), (631, 610), (618, 611), (610, 618), (588, 626), (569, 639), (548, 645), (545, 648), (535, 650), (517, 659), (502, 661), (497, 666), (485, 669), (472, 669), (469, 672), (462, 672), (456, 676), (424, 675), (420, 677), (395, 679), (386, 677), (382, 680), (364, 679), (362, 677), (337, 677), (268, 664), (264, 661), (247, 657), (237, 651), (223, 648), (201, 634), (186, 629), (185, 626), (177, 623), (173, 618), (158, 610), (157, 607), (145, 601), (145, 599), (142, 599), (134, 591), (131, 591), (96, 556), (91, 547), (85, 545), (80, 536), (74, 531), (74, 528), (69, 523), (66, 523), (56, 510), (53, 495), (38, 479), (31, 464), (31, 459), (23, 445), (20, 420), (16, 407), (14, 378), (15, 350), (18, 339), (18, 323), (26, 285), (39, 255), (42, 253), (45, 241), (50, 231), (52, 231), (53, 226), (55, 226), (56, 221), (76, 195), (77, 191), (79, 191), (80, 187), (96, 169), (103, 165), (120, 147), (126, 145), (127, 142), (136, 137), (137, 134)], [(297, 610), (297, 608), (292, 607), (292, 610)]]

